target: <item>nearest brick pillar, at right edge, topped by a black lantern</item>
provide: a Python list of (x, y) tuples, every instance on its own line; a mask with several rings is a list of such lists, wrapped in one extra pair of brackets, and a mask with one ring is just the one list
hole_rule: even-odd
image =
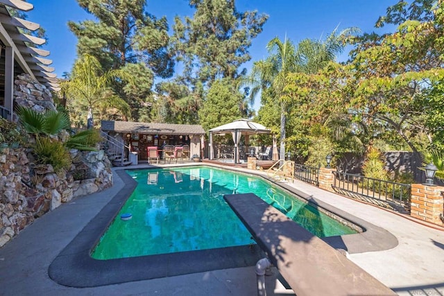
[(420, 220), (444, 226), (444, 186), (411, 184), (410, 215)]

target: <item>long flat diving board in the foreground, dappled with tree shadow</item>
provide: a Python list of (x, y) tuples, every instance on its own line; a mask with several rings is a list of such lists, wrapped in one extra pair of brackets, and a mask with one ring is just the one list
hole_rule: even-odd
[(296, 295), (395, 295), (257, 195), (232, 194), (223, 198)]

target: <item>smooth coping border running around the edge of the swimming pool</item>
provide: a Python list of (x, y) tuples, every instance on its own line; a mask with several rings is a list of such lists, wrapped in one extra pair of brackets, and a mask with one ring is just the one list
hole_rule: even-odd
[[(202, 164), (198, 164), (197, 166), (202, 166)], [(300, 195), (301, 198), (305, 198), (311, 203), (314, 202), (318, 204), (319, 207), (323, 207), (327, 211), (331, 209), (334, 214), (366, 229), (366, 232), (359, 234), (323, 238), (323, 240), (332, 247), (345, 249), (353, 253), (388, 250), (398, 245), (398, 240), (395, 236), (385, 229), (367, 223), (364, 220), (330, 206), (330, 204), (316, 200), (311, 195), (302, 193), (291, 186), (282, 186), (285, 184), (273, 182), (273, 180), (264, 177), (264, 175), (257, 174), (254, 171), (250, 173), (212, 164), (205, 164), (205, 166), (263, 177), (265, 180), (281, 186), (296, 195)], [(146, 168), (155, 169), (162, 167), (151, 166)], [(112, 220), (123, 206), (123, 203), (126, 202), (131, 193), (133, 193), (135, 186), (137, 186), (137, 182), (126, 173), (125, 168), (118, 169), (115, 173), (123, 181), (123, 188), (99, 211), (99, 214), (87, 223), (49, 265), (49, 277), (58, 284), (86, 288), (120, 284), (128, 281), (186, 275), (210, 270), (239, 268), (253, 266), (257, 260), (264, 256), (264, 252), (260, 250), (258, 245), (246, 245), (171, 254), (137, 256), (124, 259), (93, 259), (90, 256), (92, 249), (110, 223), (112, 223)]]

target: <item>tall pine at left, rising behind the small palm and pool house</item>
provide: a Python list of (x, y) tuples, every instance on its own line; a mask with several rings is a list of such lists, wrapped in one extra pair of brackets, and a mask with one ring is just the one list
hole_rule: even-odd
[(97, 19), (69, 21), (78, 37), (78, 55), (87, 53), (97, 58), (103, 69), (122, 69), (134, 77), (130, 85), (114, 82), (113, 89), (137, 119), (138, 108), (149, 101), (153, 77), (167, 78), (173, 73), (174, 63), (167, 53), (167, 20), (148, 14), (146, 0), (77, 1)]

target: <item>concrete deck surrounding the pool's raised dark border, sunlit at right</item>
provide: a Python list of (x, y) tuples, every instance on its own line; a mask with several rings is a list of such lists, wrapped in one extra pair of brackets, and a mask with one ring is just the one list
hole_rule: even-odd
[[(137, 168), (148, 166), (137, 166)], [(0, 249), (0, 295), (256, 295), (254, 267), (231, 268), (113, 284), (70, 288), (49, 278), (49, 265), (124, 184), (71, 200), (39, 218)], [(248, 170), (243, 170), (248, 172)], [(251, 171), (250, 171), (251, 172)], [(398, 246), (349, 258), (400, 295), (444, 295), (444, 232), (391, 212), (295, 181), (298, 190), (391, 232)], [(267, 279), (273, 295), (275, 281)]]

